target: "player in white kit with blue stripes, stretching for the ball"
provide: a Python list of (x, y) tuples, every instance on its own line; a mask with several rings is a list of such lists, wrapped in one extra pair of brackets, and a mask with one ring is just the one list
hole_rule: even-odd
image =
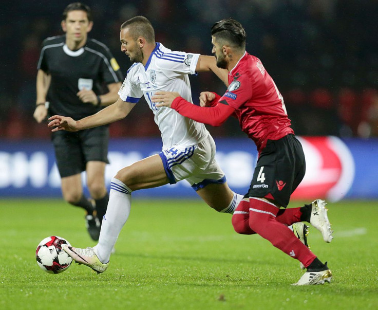
[[(213, 71), (228, 83), (227, 72), (217, 67), (212, 56), (172, 51), (155, 43), (154, 28), (143, 16), (122, 24), (120, 40), (121, 50), (134, 64), (127, 71), (117, 102), (79, 121), (55, 115), (49, 118), (48, 124), (55, 127), (52, 131), (78, 131), (114, 122), (126, 117), (144, 96), (161, 131), (162, 152), (121, 169), (112, 178), (99, 243), (93, 248), (64, 248), (75, 261), (98, 273), (107, 269), (111, 250), (127, 221), (131, 192), (185, 179), (207, 205), (224, 213), (233, 213), (243, 198), (228, 187), (215, 160), (214, 140), (204, 125), (171, 108), (158, 108), (151, 100), (158, 90), (174, 90), (193, 103), (189, 74)], [(304, 230), (300, 232), (305, 238)]]

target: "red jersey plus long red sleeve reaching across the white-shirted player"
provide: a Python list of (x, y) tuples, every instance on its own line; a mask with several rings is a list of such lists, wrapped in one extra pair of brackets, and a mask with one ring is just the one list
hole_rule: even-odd
[(259, 153), (268, 139), (294, 134), (276, 84), (261, 61), (247, 52), (229, 72), (227, 92), (222, 97), (217, 95), (213, 102), (210, 108), (200, 107), (177, 97), (171, 107), (183, 116), (214, 126), (234, 114)]

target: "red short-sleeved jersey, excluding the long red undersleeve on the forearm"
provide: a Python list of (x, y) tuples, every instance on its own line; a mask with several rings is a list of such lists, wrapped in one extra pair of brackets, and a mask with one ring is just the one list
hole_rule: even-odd
[(245, 52), (229, 72), (229, 87), (218, 100), (226, 101), (245, 132), (260, 152), (268, 139), (278, 140), (294, 134), (284, 99), (261, 61)]

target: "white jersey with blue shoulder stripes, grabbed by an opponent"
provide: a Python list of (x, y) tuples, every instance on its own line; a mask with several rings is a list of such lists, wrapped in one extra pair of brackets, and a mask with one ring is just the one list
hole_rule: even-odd
[(157, 43), (147, 63), (133, 64), (127, 71), (118, 95), (123, 101), (137, 103), (144, 95), (149, 108), (155, 114), (163, 140), (163, 149), (178, 145), (195, 145), (208, 135), (204, 124), (183, 117), (168, 107), (156, 107), (151, 101), (158, 90), (177, 92), (192, 102), (188, 74), (195, 74), (199, 54), (172, 51)]

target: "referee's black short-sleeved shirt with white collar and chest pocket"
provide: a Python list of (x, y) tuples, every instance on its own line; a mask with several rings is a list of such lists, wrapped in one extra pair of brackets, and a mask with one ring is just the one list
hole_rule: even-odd
[(51, 75), (46, 100), (50, 102), (49, 115), (80, 119), (101, 110), (101, 107), (82, 102), (79, 90), (92, 89), (96, 95), (107, 93), (104, 84), (123, 81), (119, 65), (103, 43), (87, 39), (84, 47), (72, 51), (66, 45), (65, 35), (43, 41), (37, 65)]

